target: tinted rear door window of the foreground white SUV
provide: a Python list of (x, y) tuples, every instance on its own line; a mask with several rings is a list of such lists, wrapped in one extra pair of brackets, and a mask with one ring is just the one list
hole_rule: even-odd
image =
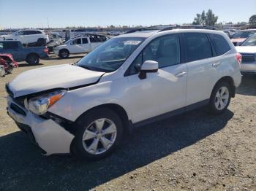
[(206, 34), (184, 34), (187, 62), (212, 57), (211, 43)]

